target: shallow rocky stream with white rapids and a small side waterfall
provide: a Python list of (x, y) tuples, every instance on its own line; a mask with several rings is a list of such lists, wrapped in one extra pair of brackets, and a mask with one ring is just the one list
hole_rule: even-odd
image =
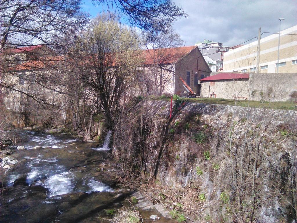
[(18, 163), (0, 168), (0, 222), (108, 222), (99, 218), (105, 209), (127, 203), (131, 191), (106, 174), (120, 173), (105, 168), (110, 132), (103, 146), (61, 134), (18, 131), (18, 137), (25, 149), (10, 155)]

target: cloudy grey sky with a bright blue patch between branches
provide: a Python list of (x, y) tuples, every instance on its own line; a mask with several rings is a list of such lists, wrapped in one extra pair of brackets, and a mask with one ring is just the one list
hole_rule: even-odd
[[(235, 46), (262, 32), (279, 32), (297, 25), (297, 1), (293, 0), (173, 0), (187, 14), (173, 24), (175, 32), (186, 42), (195, 45), (204, 39)], [(83, 9), (91, 16), (104, 10), (85, 0)], [(263, 34), (265, 37), (270, 34)], [(256, 39), (252, 40), (256, 41)], [(251, 41), (251, 42), (252, 42)]]

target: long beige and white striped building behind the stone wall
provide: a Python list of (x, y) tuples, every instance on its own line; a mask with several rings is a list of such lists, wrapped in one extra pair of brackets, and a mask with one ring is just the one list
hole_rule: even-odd
[[(279, 73), (297, 73), (297, 26), (280, 32)], [(260, 40), (259, 73), (277, 73), (279, 33)], [(256, 72), (257, 43), (242, 45), (224, 53), (224, 72)]]

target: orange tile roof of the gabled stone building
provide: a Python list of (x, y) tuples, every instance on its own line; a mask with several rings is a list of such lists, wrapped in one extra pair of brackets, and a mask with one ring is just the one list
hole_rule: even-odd
[(158, 64), (173, 64), (189, 54), (197, 46), (183, 46), (175, 48), (160, 48), (143, 50), (141, 54), (144, 58), (145, 65)]

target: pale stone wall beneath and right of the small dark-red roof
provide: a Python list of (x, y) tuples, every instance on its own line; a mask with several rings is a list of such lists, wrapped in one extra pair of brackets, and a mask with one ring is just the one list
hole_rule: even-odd
[(249, 79), (201, 82), (201, 97), (208, 92), (217, 98), (234, 99), (234, 95), (248, 100), (297, 100), (297, 73), (250, 73)]

